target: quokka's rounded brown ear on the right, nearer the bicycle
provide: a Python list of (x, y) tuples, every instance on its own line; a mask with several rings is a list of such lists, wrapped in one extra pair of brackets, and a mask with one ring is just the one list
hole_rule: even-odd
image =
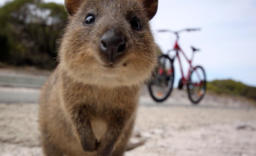
[(157, 11), (158, 0), (140, 0), (142, 2), (149, 20), (151, 20)]

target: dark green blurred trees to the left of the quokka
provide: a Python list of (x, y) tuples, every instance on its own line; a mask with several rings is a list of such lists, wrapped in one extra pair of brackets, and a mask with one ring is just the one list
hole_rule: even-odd
[(56, 66), (59, 39), (67, 22), (64, 5), (14, 0), (0, 8), (0, 61), (15, 66)]

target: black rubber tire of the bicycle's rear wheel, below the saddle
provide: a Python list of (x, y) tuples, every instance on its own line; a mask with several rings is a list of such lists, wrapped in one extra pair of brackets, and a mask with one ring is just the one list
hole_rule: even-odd
[[(204, 80), (202, 81), (202, 82), (203, 82), (204, 93), (203, 93), (203, 95), (200, 96), (200, 98), (197, 99), (197, 100), (195, 100), (195, 99), (192, 98), (192, 95), (191, 95), (191, 88), (189, 87), (189, 85), (191, 85), (191, 76), (192, 76), (192, 74), (193, 74), (193, 72), (195, 71), (196, 68), (202, 69), (202, 72), (203, 72), (203, 75), (204, 75)], [(205, 76), (205, 70), (204, 70), (204, 68), (203, 68), (202, 66), (196, 66), (196, 67), (191, 71), (191, 73), (190, 73), (190, 75), (189, 75), (189, 81), (188, 81), (188, 85), (187, 85), (187, 86), (188, 86), (188, 87), (187, 87), (187, 88), (188, 88), (188, 97), (189, 97), (190, 101), (191, 101), (193, 104), (198, 104), (198, 103), (202, 100), (202, 98), (204, 97), (205, 91), (206, 91), (206, 83), (207, 83), (207, 81), (206, 81), (206, 76)]]

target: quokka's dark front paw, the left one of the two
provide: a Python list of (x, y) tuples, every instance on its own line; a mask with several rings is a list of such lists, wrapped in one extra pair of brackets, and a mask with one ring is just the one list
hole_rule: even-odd
[(95, 136), (81, 138), (81, 145), (84, 151), (95, 151), (97, 150), (98, 140)]

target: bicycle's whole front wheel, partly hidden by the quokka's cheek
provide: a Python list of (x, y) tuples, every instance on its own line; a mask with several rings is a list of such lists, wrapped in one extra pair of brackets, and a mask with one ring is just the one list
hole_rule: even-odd
[(154, 82), (148, 86), (148, 89), (155, 101), (162, 102), (172, 92), (174, 81), (173, 61), (168, 55), (161, 55), (159, 57), (159, 68), (157, 71), (157, 74), (154, 76)]

